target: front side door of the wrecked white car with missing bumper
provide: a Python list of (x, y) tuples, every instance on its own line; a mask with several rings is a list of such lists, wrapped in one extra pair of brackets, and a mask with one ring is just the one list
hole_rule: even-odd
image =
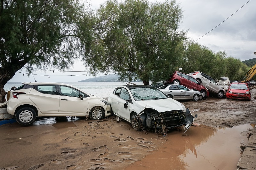
[[(124, 87), (121, 89), (120, 97), (117, 100), (118, 116), (130, 121), (130, 108), (132, 107), (131, 97), (127, 89)], [(124, 107), (124, 104), (128, 104), (128, 107)]]

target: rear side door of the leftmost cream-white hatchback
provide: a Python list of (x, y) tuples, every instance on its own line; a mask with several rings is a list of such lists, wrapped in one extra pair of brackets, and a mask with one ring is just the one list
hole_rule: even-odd
[(58, 114), (60, 97), (56, 85), (37, 85), (29, 92), (29, 99), (43, 114)]

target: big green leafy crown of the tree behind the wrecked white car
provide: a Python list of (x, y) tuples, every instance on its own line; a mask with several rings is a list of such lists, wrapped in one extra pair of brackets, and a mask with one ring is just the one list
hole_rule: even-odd
[(174, 0), (109, 0), (96, 18), (95, 39), (83, 58), (91, 72), (113, 71), (121, 80), (135, 77), (149, 85), (169, 78), (180, 63), (185, 33), (178, 31), (182, 12)]

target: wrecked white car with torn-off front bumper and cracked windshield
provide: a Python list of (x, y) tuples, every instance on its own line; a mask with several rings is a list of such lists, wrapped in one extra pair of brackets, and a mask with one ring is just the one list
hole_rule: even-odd
[(149, 85), (116, 87), (109, 94), (108, 102), (117, 121), (122, 118), (132, 123), (135, 130), (154, 128), (165, 133), (182, 125), (188, 129), (197, 117), (191, 115), (183, 104)]

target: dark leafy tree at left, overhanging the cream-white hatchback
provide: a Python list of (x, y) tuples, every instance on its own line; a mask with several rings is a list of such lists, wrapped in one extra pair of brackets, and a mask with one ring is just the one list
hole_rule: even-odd
[(89, 46), (90, 15), (77, 0), (0, 0), (0, 103), (17, 70), (68, 68)]

